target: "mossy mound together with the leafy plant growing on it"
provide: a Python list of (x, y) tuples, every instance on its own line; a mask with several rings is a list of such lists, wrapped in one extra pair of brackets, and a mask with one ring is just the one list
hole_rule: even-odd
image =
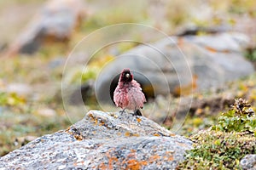
[(194, 149), (177, 169), (241, 169), (239, 161), (256, 154), (255, 115), (244, 99), (236, 99), (232, 109), (218, 117), (216, 125), (191, 136)]

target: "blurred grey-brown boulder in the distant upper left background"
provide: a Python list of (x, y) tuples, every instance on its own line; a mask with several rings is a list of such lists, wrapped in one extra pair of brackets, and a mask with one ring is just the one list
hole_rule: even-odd
[(9, 55), (32, 54), (44, 42), (67, 42), (83, 18), (84, 1), (49, 0), (10, 45)]

